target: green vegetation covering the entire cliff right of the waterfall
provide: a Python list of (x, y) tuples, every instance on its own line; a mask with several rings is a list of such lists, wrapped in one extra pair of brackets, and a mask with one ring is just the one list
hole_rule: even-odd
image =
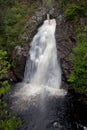
[[(64, 2), (64, 0), (60, 2), (62, 6)], [(76, 39), (71, 54), (73, 70), (68, 82), (75, 92), (80, 94), (78, 100), (87, 104), (87, 2), (86, 0), (73, 0), (71, 3), (66, 1), (65, 4), (64, 17), (67, 22), (71, 23)]]

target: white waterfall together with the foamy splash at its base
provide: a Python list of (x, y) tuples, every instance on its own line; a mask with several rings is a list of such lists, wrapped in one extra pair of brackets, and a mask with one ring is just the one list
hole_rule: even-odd
[(13, 103), (15, 108), (19, 106), (19, 109), (27, 109), (30, 102), (36, 102), (38, 95), (42, 102), (41, 106), (45, 106), (46, 95), (66, 94), (65, 90), (60, 89), (61, 69), (57, 60), (55, 29), (55, 19), (50, 20), (50, 23), (49, 20), (45, 20), (34, 36), (25, 67), (24, 80), (17, 84), (12, 95), (16, 97)]

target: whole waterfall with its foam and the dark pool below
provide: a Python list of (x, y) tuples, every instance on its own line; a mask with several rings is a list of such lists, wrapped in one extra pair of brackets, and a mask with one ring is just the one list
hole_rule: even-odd
[(73, 106), (61, 89), (55, 19), (45, 20), (31, 42), (24, 80), (11, 93), (11, 110), (21, 116), (18, 130), (77, 130)]

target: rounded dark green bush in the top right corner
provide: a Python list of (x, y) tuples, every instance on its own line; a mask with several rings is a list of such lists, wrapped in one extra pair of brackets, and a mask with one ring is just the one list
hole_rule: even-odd
[(68, 5), (67, 9), (65, 10), (64, 16), (68, 21), (74, 21), (79, 16), (85, 15), (84, 7), (76, 4)]

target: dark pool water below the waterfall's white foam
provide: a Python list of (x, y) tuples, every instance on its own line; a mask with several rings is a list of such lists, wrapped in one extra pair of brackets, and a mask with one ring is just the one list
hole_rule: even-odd
[(17, 112), (17, 109), (13, 109), (23, 119), (19, 130), (77, 130), (67, 96), (57, 98), (47, 95), (42, 103), (39, 99), (33, 105), (31, 100), (26, 110), (19, 109)]

